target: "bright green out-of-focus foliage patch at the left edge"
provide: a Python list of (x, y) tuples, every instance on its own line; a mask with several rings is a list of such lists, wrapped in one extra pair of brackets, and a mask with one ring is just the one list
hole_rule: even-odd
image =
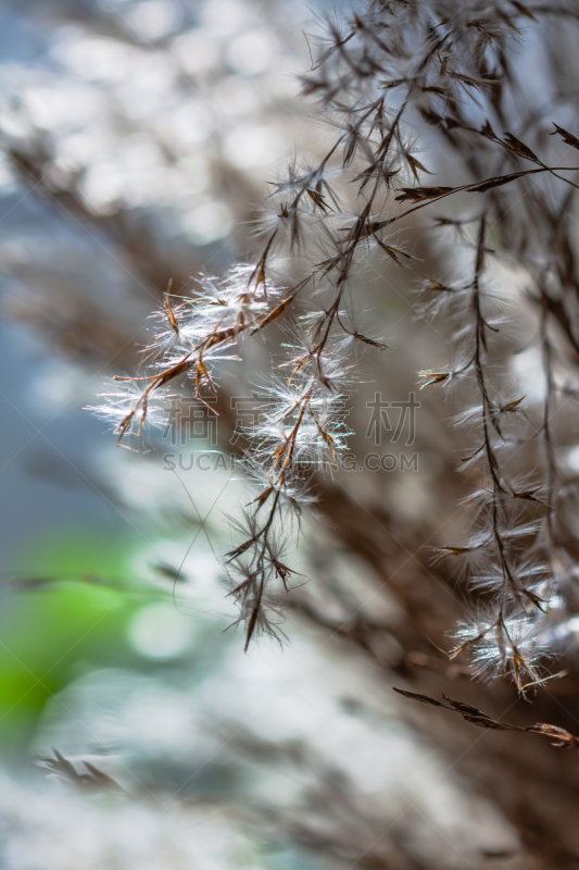
[(28, 594), (5, 596), (2, 607), (4, 754), (27, 749), (48, 699), (79, 673), (121, 662), (136, 666), (127, 636), (136, 602), (122, 589), (76, 580), (83, 574), (98, 577), (99, 583), (130, 577), (128, 544), (123, 537), (99, 538), (95, 530), (64, 525), (49, 539), (33, 539), (26, 554), (16, 555), (18, 569), (35, 580)]

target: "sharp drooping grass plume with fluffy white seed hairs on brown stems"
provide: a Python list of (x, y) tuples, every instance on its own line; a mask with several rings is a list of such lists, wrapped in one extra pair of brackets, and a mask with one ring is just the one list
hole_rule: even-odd
[[(547, 471), (532, 481), (517, 477), (507, 465), (516, 464), (537, 431), (524, 397), (508, 395), (508, 377), (495, 384), (490, 376), (491, 347), (501, 339), (504, 315), (493, 321), (494, 300), (483, 279), (489, 224), (503, 234), (496, 256), (515, 258), (532, 277), (541, 265), (529, 241), (539, 232), (532, 209), (537, 203), (546, 208), (537, 185), (566, 186), (571, 194), (578, 187), (567, 177), (577, 167), (559, 154), (539, 157), (534, 145), (511, 132), (498, 135), (489, 120), (503, 128), (509, 123), (507, 109), (517, 89), (509, 52), (523, 27), (533, 26), (542, 11), (486, 0), (466, 5), (366, 0), (347, 20), (328, 17), (302, 83), (304, 94), (317, 101), (329, 145), (309, 162), (293, 159), (273, 184), (259, 228), (262, 246), (249, 264), (223, 278), (202, 277), (200, 291), (178, 304), (167, 296), (155, 315), (148, 374), (115, 381), (96, 409), (116, 426), (119, 442), (138, 436), (147, 423), (163, 422), (168, 390), (185, 377), (209, 407), (219, 369), (239, 359), (246, 338), (267, 336), (274, 324), (290, 331), (268, 386), (272, 401), (248, 433), (247, 469), (256, 497), (234, 522), (239, 543), (226, 557), (246, 648), (261, 631), (279, 632), (276, 591), (288, 588), (292, 573), (285, 555), (287, 518), (299, 521), (313, 501), (309, 471), (338, 463), (345, 449), (343, 395), (353, 378), (356, 348), (383, 347), (379, 335), (368, 336), (356, 326), (356, 286), (366, 265), (382, 253), (397, 268), (413, 271), (414, 258), (401, 241), (403, 227), (435, 204), (458, 209), (454, 203), (466, 199), (483, 215), (474, 277), (458, 285), (431, 278), (425, 291), (436, 298), (426, 306), (429, 314), (448, 306), (455, 321), (466, 319), (467, 327), (461, 322), (456, 330), (456, 363), (449, 371), (428, 372), (425, 381), (464, 382), (478, 395), (462, 422), (478, 432), (480, 443), (464, 464), (483, 465), (489, 485), (476, 493), (469, 542), (443, 549), (487, 560), (484, 571), (473, 576), (480, 612), (461, 630), (458, 649), (469, 648), (483, 671), (509, 671), (519, 687), (524, 672), (538, 676), (536, 661), (544, 648), (541, 620), (554, 588), (553, 547), (541, 543), (541, 530), (546, 522), (552, 544), (555, 518), (554, 508), (547, 507), (546, 519), (531, 521), (526, 511), (529, 502), (539, 505), (541, 487), (553, 502), (556, 480), (549, 422), (556, 378), (547, 320), (557, 319), (570, 339), (575, 333), (556, 294), (541, 290), (549, 386), (540, 435)], [(416, 130), (425, 138), (442, 136), (460, 154), (467, 181), (425, 186), (424, 175), (435, 172), (425, 165)], [(566, 128), (556, 125), (554, 132), (567, 149), (579, 147)], [(513, 163), (512, 171), (498, 172), (504, 161)], [(411, 207), (398, 204), (405, 202)], [(461, 232), (467, 224), (456, 215), (439, 219), (440, 227)], [(543, 256), (546, 246), (541, 240), (539, 247)]]

